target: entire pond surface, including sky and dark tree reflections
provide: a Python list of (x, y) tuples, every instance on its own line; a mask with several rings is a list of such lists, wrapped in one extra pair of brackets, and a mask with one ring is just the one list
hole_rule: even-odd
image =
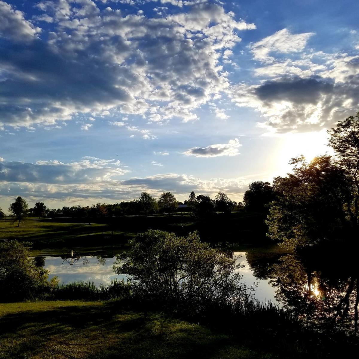
[[(93, 253), (92, 253), (93, 254)], [(273, 302), (313, 321), (341, 321), (353, 328), (358, 318), (359, 284), (356, 261), (345, 256), (323, 255), (313, 249), (303, 253), (283, 253), (278, 248), (248, 248), (233, 252), (242, 282), (248, 287), (257, 284), (255, 298)], [(71, 253), (46, 256), (45, 269), (50, 278), (60, 282), (92, 281), (108, 284), (111, 280), (126, 279), (112, 270), (115, 252), (97, 255)]]

